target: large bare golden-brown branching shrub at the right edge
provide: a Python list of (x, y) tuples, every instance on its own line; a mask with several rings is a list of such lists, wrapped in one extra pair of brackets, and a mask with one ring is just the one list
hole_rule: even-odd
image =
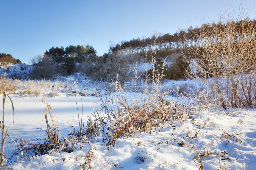
[(255, 107), (256, 19), (241, 7), (238, 15), (225, 12), (216, 21), (193, 30), (183, 51), (190, 65), (188, 75), (216, 94), (223, 108)]

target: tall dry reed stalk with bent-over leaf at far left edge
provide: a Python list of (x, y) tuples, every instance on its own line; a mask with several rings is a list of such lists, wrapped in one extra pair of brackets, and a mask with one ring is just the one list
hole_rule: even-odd
[[(7, 130), (5, 131), (5, 124), (4, 124), (4, 110), (5, 110), (5, 100), (6, 97), (8, 97), (12, 103), (12, 107), (13, 107), (13, 126), (14, 126), (14, 106), (13, 106), (13, 101), (11, 100), (11, 98), (6, 95), (6, 91), (5, 91), (5, 78), (6, 78), (6, 71), (7, 71), (7, 65), (6, 65), (6, 70), (5, 70), (5, 74), (4, 74), (4, 84), (3, 84), (3, 94), (4, 94), (4, 100), (3, 100), (3, 119), (2, 122), (0, 121), (0, 127), (1, 127), (1, 131), (2, 131), (2, 138), (1, 138), (1, 153), (0, 153), (0, 166), (3, 166), (3, 161), (4, 161), (4, 144), (5, 144), (5, 140), (8, 137), (10, 137), (8, 135), (8, 131), (11, 127), (11, 125), (7, 128)], [(7, 160), (8, 161), (8, 160)]]

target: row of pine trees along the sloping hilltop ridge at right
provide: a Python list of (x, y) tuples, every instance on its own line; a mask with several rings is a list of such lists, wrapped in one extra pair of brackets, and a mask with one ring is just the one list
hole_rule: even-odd
[[(227, 25), (232, 25), (234, 29), (234, 34), (242, 34), (244, 30), (249, 30), (250, 27), (255, 28), (256, 20), (250, 20), (248, 17), (243, 20), (230, 21), (227, 23), (222, 23), (218, 21), (217, 23), (205, 23), (200, 27), (193, 28), (192, 26), (188, 27), (187, 30), (181, 29), (179, 32), (174, 34), (166, 33), (164, 35), (152, 35), (151, 37), (143, 38), (133, 38), (132, 40), (125, 40), (117, 43), (116, 45), (110, 46), (109, 51), (123, 51), (124, 53), (142, 53), (145, 56), (145, 53), (157, 51), (159, 56), (165, 57), (168, 53), (161, 53), (161, 51), (170, 51), (178, 50), (181, 51), (184, 48), (187, 48), (191, 45), (191, 42), (197, 43), (197, 39), (200, 36), (200, 33), (204, 30), (207, 30), (208, 36), (215, 38), (216, 35), (212, 34), (212, 30), (217, 28), (219, 35), (221, 37), (225, 36), (226, 33), (224, 30), (227, 29)], [(234, 40), (235, 42), (235, 40)]]

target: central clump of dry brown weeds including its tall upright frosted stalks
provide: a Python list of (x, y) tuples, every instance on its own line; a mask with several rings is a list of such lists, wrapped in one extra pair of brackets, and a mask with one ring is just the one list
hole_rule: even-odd
[(153, 67), (150, 81), (152, 84), (149, 87), (149, 80), (146, 80), (145, 90), (139, 100), (128, 101), (121, 84), (117, 81), (114, 84), (115, 92), (108, 92), (110, 96), (104, 101), (104, 108), (111, 117), (108, 126), (110, 138), (106, 144), (109, 148), (115, 146), (118, 138), (126, 138), (135, 132), (151, 133), (157, 127), (176, 126), (182, 123), (181, 119), (185, 121), (188, 116), (193, 115), (191, 108), (185, 106), (184, 102), (178, 103), (167, 99), (169, 90), (161, 91), (165, 64), (163, 63), (161, 70), (157, 70), (155, 53), (152, 53), (151, 57)]

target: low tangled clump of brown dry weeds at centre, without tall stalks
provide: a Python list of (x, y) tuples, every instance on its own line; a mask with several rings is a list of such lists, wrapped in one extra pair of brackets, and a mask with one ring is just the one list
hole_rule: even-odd
[[(193, 116), (193, 108), (182, 101), (168, 100), (167, 92), (145, 92), (141, 101), (128, 103), (121, 85), (110, 101), (115, 102), (116, 112), (113, 113), (109, 125), (110, 139), (106, 146), (115, 145), (117, 138), (126, 138), (135, 132), (151, 132), (156, 127), (176, 126)], [(154, 90), (154, 89), (153, 89)]]

